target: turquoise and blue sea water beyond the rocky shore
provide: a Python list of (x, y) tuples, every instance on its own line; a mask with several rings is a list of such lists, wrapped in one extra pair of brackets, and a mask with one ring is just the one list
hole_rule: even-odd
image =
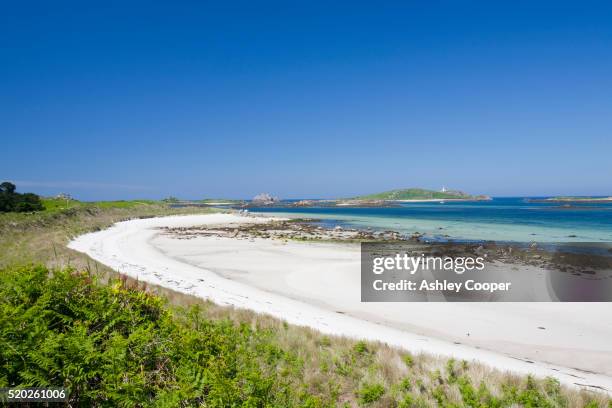
[(405, 203), (394, 208), (264, 207), (251, 211), (318, 218), (330, 225), (390, 229), (403, 234), (420, 232), (432, 240), (612, 242), (612, 203), (566, 208), (513, 197)]

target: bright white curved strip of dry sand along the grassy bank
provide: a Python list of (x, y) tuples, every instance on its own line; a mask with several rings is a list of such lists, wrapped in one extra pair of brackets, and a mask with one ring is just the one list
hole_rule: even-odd
[[(291, 299), (279, 293), (248, 285), (244, 281), (227, 279), (201, 265), (195, 266), (169, 257), (152, 244), (159, 233), (157, 228), (162, 226), (224, 225), (227, 223), (266, 222), (267, 220), (269, 219), (239, 217), (230, 214), (132, 220), (117, 223), (103, 231), (77, 237), (69, 244), (69, 247), (84, 252), (93, 259), (141, 281), (209, 299), (220, 305), (231, 305), (270, 314), (286, 320), (288, 323), (309, 326), (326, 334), (382, 341), (393, 346), (409, 349), (412, 352), (426, 352), (458, 359), (478, 360), (501, 370), (523, 374), (532, 373), (538, 376), (553, 376), (565, 384), (589, 386), (608, 393), (612, 392), (612, 377), (609, 375), (534, 362), (533, 360), (527, 361), (521, 357), (520, 350), (517, 350), (516, 355), (518, 357), (512, 357), (473, 346), (456, 344), (449, 340), (441, 340), (431, 335), (415, 334), (384, 324), (384, 317), (379, 317), (378, 322), (373, 322), (348, 314), (337, 313), (322, 305)], [(229, 250), (236, 251), (235, 248), (229, 248)], [(244, 267), (249, 269), (250, 266), (245, 265)], [(426, 309), (432, 310), (435, 307), (432, 305), (434, 304), (421, 304), (421, 307), (425, 306)], [(508, 305), (510, 305), (508, 307), (512, 307), (512, 304)], [(446, 308), (448, 307), (446, 306)], [(486, 307), (491, 306), (486, 304)], [(480, 309), (486, 310), (486, 307)], [(499, 308), (500, 306), (496, 307)], [(471, 306), (471, 308), (476, 310), (475, 313), (478, 313), (478, 306)], [(435, 309), (442, 310), (439, 306)], [(525, 308), (523, 308), (523, 312), (525, 312)], [(493, 316), (495, 313), (492, 315), (489, 313), (489, 315)], [(483, 316), (487, 315), (483, 314)], [(437, 317), (443, 318), (443, 316)], [(448, 319), (451, 320), (452, 316)], [(452, 322), (449, 321), (449, 325), (451, 324)], [(490, 330), (495, 330), (496, 325), (508, 324), (508, 322), (499, 320), (487, 324)], [(607, 333), (606, 330), (607, 328), (603, 328), (602, 332)], [(604, 334), (604, 337), (607, 336)]]

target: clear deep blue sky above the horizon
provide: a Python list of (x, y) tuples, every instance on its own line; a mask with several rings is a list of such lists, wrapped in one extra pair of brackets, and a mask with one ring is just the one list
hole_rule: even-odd
[(1, 7), (21, 191), (612, 194), (610, 2)]

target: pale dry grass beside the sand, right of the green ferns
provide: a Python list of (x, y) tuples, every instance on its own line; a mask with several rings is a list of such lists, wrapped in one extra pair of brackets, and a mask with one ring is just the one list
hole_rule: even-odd
[[(204, 304), (205, 314), (211, 319), (230, 318), (249, 322), (252, 327), (272, 329), (282, 348), (295, 351), (305, 361), (303, 383), (309, 392), (336, 395), (340, 405), (487, 407), (495, 406), (494, 399), (507, 399), (512, 392), (525, 394), (525, 390), (531, 390), (531, 401), (540, 404), (530, 405), (529, 397), (525, 397), (525, 403), (516, 406), (610, 406), (610, 400), (602, 394), (561, 386), (554, 379), (536, 380), (476, 362), (411, 354), (379, 342), (325, 336), (269, 316)], [(384, 392), (376, 401), (364, 404), (363, 391), (376, 385), (382, 386)], [(466, 404), (466, 395), (471, 392), (468, 388), (482, 397), (478, 404)], [(493, 397), (490, 404), (484, 402), (487, 395)]]

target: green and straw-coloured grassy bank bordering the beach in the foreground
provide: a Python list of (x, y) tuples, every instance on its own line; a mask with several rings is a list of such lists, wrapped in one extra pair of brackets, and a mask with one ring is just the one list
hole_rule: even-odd
[(76, 203), (2, 215), (0, 387), (64, 385), (73, 406), (610, 406), (552, 379), (327, 337), (145, 286), (65, 247), (119, 220), (194, 211), (206, 210)]

